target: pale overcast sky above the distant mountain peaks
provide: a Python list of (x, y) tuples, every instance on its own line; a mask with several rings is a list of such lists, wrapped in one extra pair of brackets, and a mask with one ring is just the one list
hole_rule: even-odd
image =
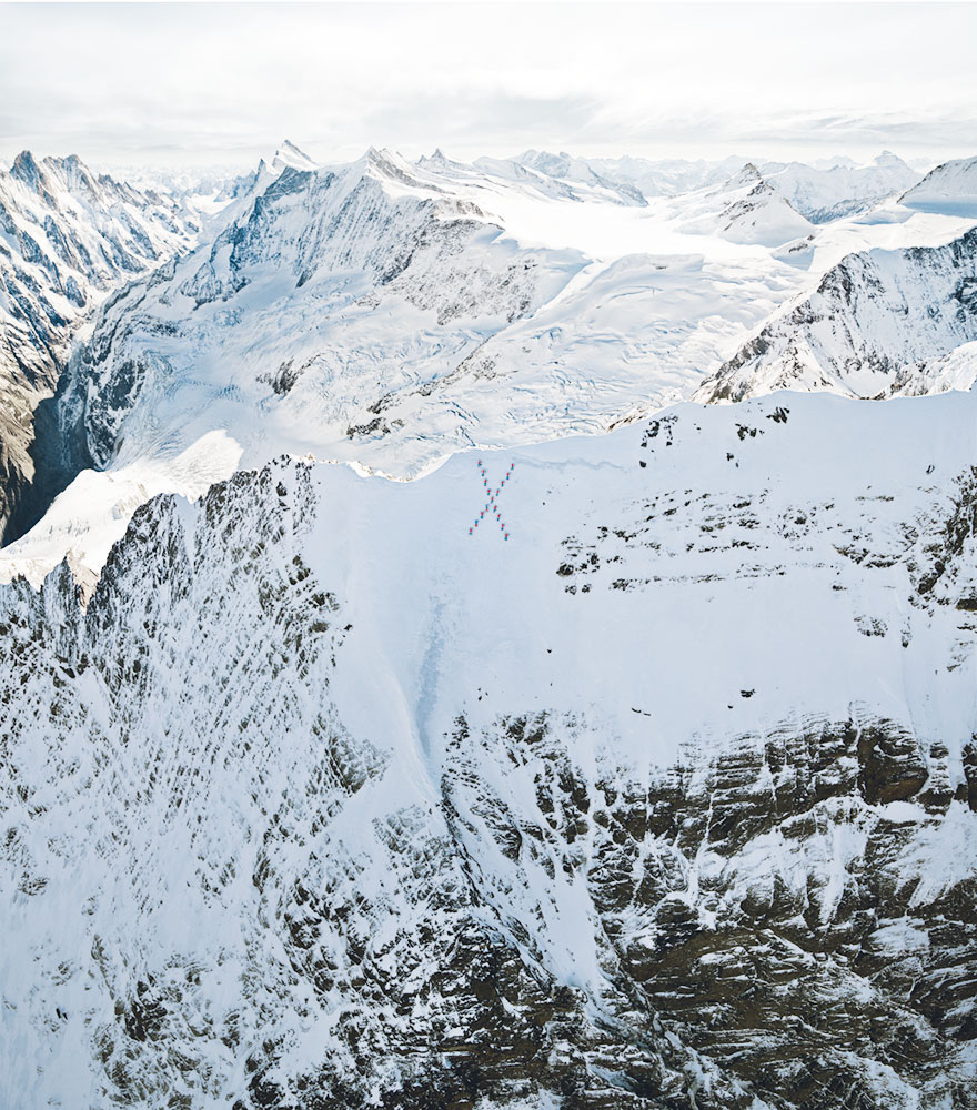
[(0, 159), (977, 153), (977, 4), (0, 4)]

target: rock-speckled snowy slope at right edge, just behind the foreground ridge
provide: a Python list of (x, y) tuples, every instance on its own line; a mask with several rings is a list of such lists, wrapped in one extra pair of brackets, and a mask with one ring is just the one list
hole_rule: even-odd
[(969, 389), (977, 340), (977, 229), (938, 248), (853, 254), (775, 317), (698, 390), (741, 401), (774, 390), (856, 397)]

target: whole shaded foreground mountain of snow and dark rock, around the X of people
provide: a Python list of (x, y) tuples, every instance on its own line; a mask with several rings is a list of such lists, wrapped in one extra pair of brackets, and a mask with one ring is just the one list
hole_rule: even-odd
[(4, 587), (0, 1103), (977, 1106), (975, 418), (272, 464)]

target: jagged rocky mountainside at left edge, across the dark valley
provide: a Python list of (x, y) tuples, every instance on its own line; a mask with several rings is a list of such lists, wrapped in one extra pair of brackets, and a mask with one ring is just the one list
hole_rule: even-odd
[(0, 171), (0, 542), (26, 532), (88, 461), (48, 402), (79, 325), (199, 231), (175, 198), (95, 176), (74, 155), (38, 162), (24, 151)]

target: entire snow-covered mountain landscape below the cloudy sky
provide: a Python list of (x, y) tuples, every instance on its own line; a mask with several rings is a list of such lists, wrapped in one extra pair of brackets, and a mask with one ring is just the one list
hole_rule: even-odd
[(977, 229), (610, 161), (0, 178), (0, 1107), (977, 1110)]

